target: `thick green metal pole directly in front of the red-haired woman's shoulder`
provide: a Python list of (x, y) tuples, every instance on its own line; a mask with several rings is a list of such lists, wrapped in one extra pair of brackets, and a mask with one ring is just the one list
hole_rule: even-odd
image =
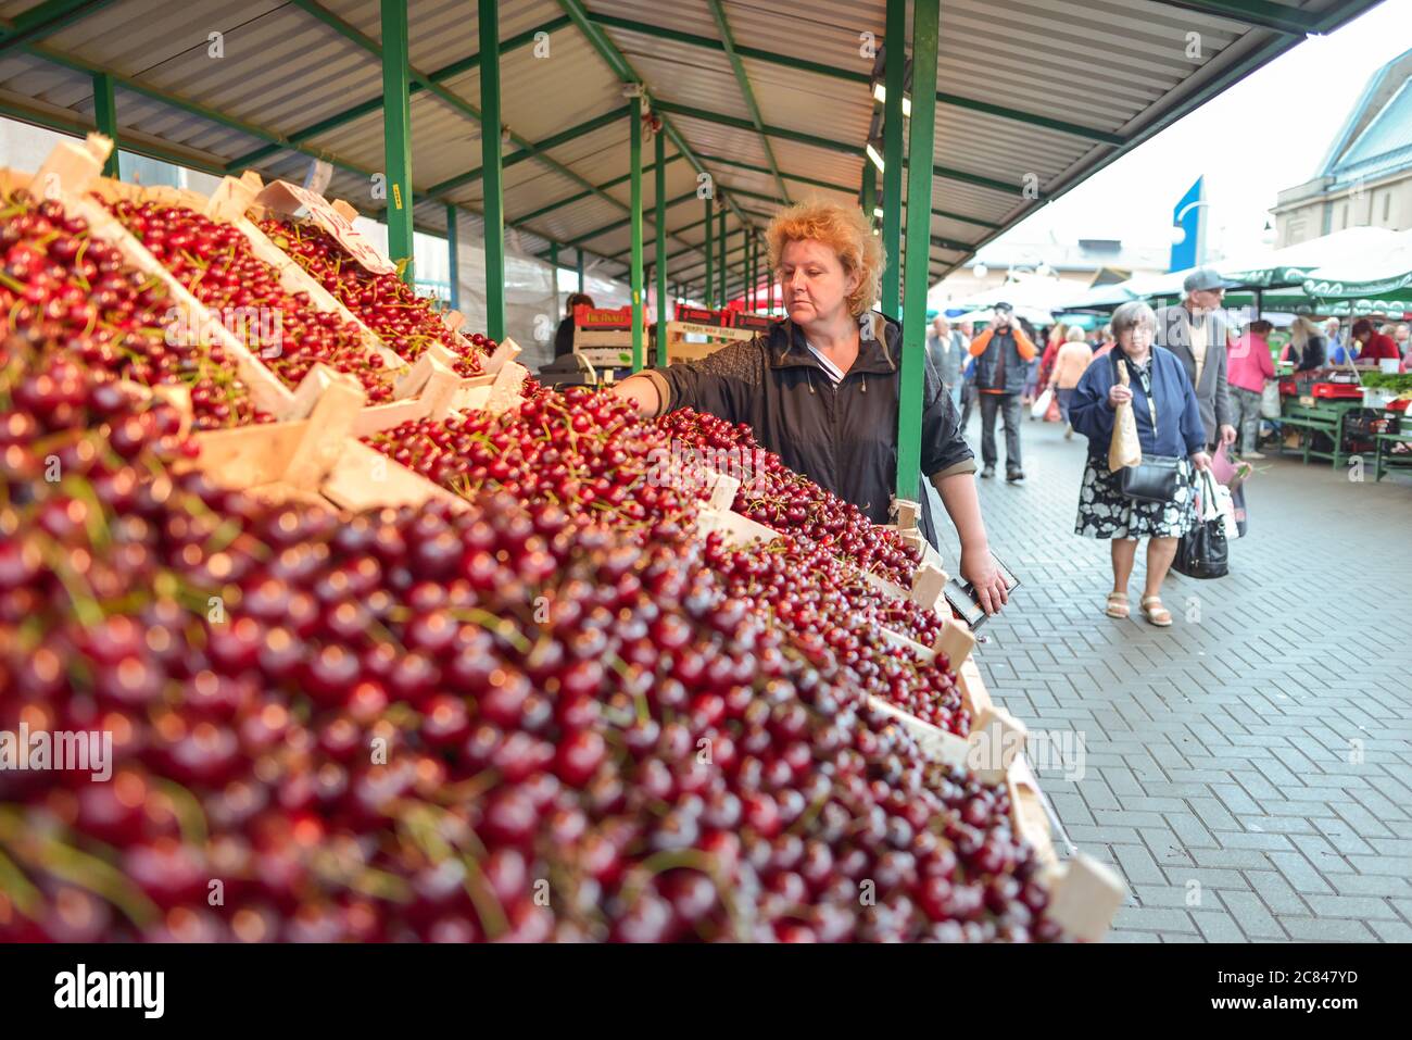
[[(936, 45), (940, 0), (912, 0), (912, 123), (907, 171), (907, 314), (902, 319), (902, 384), (897, 410), (897, 496), (916, 499), (922, 469), (922, 386), (926, 358), (926, 290), (931, 281), (932, 150), (936, 146)], [(891, 42), (894, 37), (888, 37)], [(897, 37), (901, 38), (901, 37)], [(891, 55), (890, 55), (891, 57)], [(888, 89), (888, 100), (892, 92)]]

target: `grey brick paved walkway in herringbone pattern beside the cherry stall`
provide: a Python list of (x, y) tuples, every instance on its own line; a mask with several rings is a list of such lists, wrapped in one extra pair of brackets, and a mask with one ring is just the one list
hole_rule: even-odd
[(1039, 777), (1128, 882), (1111, 941), (1412, 941), (1412, 485), (1261, 463), (1231, 574), (1173, 574), (1161, 630), (1141, 554), (1134, 618), (1103, 615), (1108, 545), (1073, 534), (1084, 451), (1027, 420), (1028, 480), (980, 482), (1024, 588), (977, 660), (1032, 731), (1083, 739), (1079, 779)]

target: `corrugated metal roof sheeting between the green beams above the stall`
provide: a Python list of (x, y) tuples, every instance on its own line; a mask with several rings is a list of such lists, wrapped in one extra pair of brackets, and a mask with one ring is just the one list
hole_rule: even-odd
[[(0, 11), (13, 18), (37, 3), (0, 0)], [(381, 110), (346, 116), (352, 106), (376, 105), (381, 96), (378, 58), (304, 10), (305, 6), (278, 0), (241, 4), (113, 0), (52, 37), (0, 57), (0, 105), (21, 117), (59, 126), (86, 124), (93, 110), (88, 71), (107, 68), (123, 78), (117, 99), (124, 144), (160, 151), (165, 141), (186, 161), (208, 168), (268, 151), (253, 162), (254, 168), (265, 177), (295, 179), (302, 178), (309, 158), (280, 150), (278, 143), (333, 120), (305, 146), (336, 164), (329, 194), (369, 211), (380, 209), (384, 202), (373, 198), (373, 185), (361, 171), (383, 165)], [(1337, 8), (1327, 23), (1332, 27), (1370, 3), (1309, 0), (1282, 6), (1292, 11)], [(323, 7), (354, 34), (370, 41), (381, 38), (378, 0), (325, 0)], [(874, 109), (866, 82), (874, 61), (863, 48), (864, 34), (882, 42), (885, 0), (802, 0), (791, 7), (726, 0), (723, 10), (736, 44), (761, 52), (747, 54), (741, 62), (762, 122), (857, 146), (856, 151), (839, 151), (772, 136), (770, 146), (784, 174), (836, 185), (830, 189), (786, 179), (789, 196), (856, 198), (866, 161), (861, 146)], [(563, 14), (563, 6), (554, 0), (504, 3), (501, 38), (518, 37), (562, 20)], [(650, 95), (712, 113), (709, 119), (681, 113), (668, 119), (695, 154), (713, 157), (703, 162), (727, 201), (751, 222), (762, 222), (775, 212), (778, 184), (768, 172), (770, 155), (719, 42), (720, 27), (710, 7), (703, 0), (590, 0), (589, 17), (633, 23), (634, 27), (603, 24), (602, 28), (644, 79)], [(215, 30), (225, 34), (223, 58), (208, 54), (206, 37)], [(657, 35), (662, 30), (690, 38), (664, 40)], [(1193, 32), (1199, 42), (1195, 55), (1189, 52)], [(1200, 90), (1234, 79), (1292, 42), (1293, 37), (1272, 30), (1159, 0), (946, 0), (938, 89), (1138, 140), (1155, 131), (1168, 113), (1189, 106)], [(474, 4), (465, 0), (409, 4), (409, 52), (421, 72), (429, 75), (465, 62), (477, 47)], [(781, 65), (767, 54), (816, 62), (856, 79)], [(624, 105), (616, 73), (573, 25), (552, 31), (545, 57), (532, 47), (508, 51), (500, 71), (501, 119), (521, 140), (542, 141)], [(476, 68), (442, 76), (441, 86), (479, 109)], [(192, 102), (249, 126), (232, 126), (172, 105), (171, 99)], [(480, 165), (480, 127), (460, 106), (418, 89), (411, 110), (414, 181), (424, 192), (428, 185)], [(345, 117), (333, 119), (340, 114)], [(737, 126), (714, 122), (719, 117)], [(1401, 119), (1398, 126), (1408, 123)], [(621, 205), (599, 194), (539, 211), (583, 194), (585, 181), (600, 185), (623, 177), (627, 134), (623, 119), (549, 148), (546, 155), (552, 162), (532, 158), (505, 170), (505, 212), (511, 219), (517, 213), (538, 213), (530, 222), (537, 235), (527, 232), (524, 240), (539, 243), (541, 236), (552, 236), (568, 242), (623, 218)], [(517, 147), (511, 146), (507, 154)], [(675, 154), (675, 146), (668, 153)], [(1100, 143), (1083, 133), (976, 110), (964, 102), (942, 103), (936, 110), (936, 164), (1017, 189), (1032, 174), (1039, 196), (987, 188), (964, 177), (938, 177), (932, 205), (1008, 225), (1117, 154), (1121, 148), (1114, 143)], [(651, 144), (645, 144), (644, 161), (651, 157)], [(668, 198), (690, 192), (695, 181), (693, 162), (674, 162), (668, 170)], [(651, 199), (651, 174), (644, 178), (644, 189)], [(621, 203), (628, 201), (626, 182), (604, 191)], [(479, 206), (479, 179), (449, 189), (441, 199), (414, 192), (417, 219), (431, 228), (443, 226), (448, 198)], [(695, 199), (674, 206), (669, 228), (693, 225), (700, 213)], [(731, 212), (733, 232), (737, 222)], [(933, 216), (931, 223), (933, 236), (955, 243), (980, 243), (998, 233), (955, 218)], [(624, 226), (600, 232), (589, 242), (613, 256), (626, 249), (627, 235)], [(690, 228), (674, 236), (669, 252), (682, 249), (682, 242), (700, 240), (702, 229)], [(648, 240), (648, 254), (651, 249)], [(966, 259), (957, 250), (936, 246), (931, 253), (933, 270)], [(699, 257), (686, 254), (674, 261), (685, 274), (692, 263), (699, 263)]]

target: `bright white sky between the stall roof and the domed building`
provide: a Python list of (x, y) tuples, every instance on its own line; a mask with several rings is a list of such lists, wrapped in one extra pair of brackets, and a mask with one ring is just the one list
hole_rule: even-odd
[(1169, 246), (1172, 208), (1206, 174), (1209, 254), (1260, 250), (1276, 194), (1315, 175), (1364, 83), (1409, 45), (1412, 0), (1384, 0), (1337, 32), (1305, 40), (997, 243), (1055, 235)]

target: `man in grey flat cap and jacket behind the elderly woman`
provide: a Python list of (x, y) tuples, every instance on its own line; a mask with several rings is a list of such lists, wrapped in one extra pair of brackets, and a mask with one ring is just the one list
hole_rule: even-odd
[(1196, 387), (1207, 447), (1236, 442), (1230, 390), (1226, 386), (1228, 325), (1221, 311), (1226, 283), (1210, 267), (1199, 267), (1182, 283), (1186, 298), (1156, 312), (1156, 343), (1175, 353)]

